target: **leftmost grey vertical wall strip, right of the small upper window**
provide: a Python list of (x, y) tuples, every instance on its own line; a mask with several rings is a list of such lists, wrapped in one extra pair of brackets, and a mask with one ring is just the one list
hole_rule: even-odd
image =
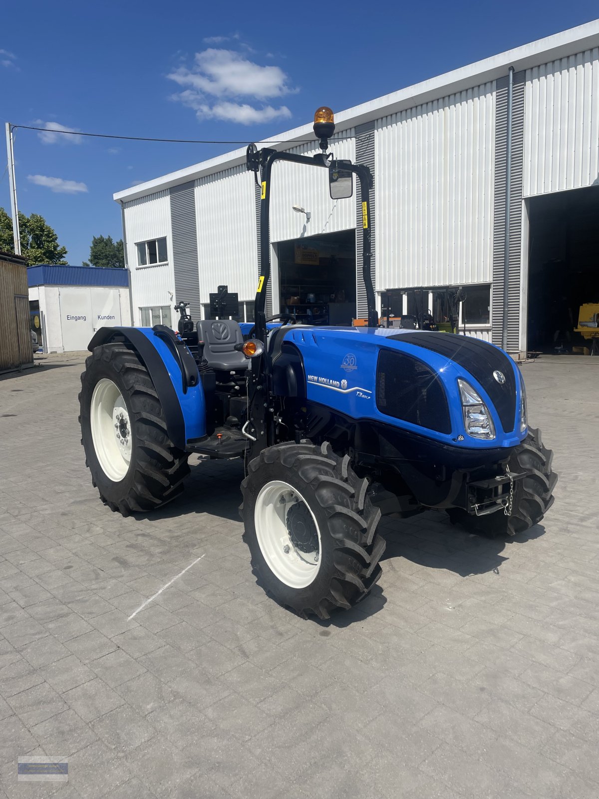
[(170, 189), (173, 270), (177, 302), (189, 303), (193, 319), (201, 319), (197, 257), (196, 196), (193, 181)]

